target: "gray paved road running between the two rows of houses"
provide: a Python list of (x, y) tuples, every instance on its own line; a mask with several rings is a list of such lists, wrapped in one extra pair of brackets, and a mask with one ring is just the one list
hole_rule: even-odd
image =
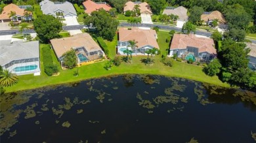
[[(120, 23), (119, 24), (120, 27), (132, 27), (132, 26), (136, 26), (136, 27), (155, 27), (158, 26), (160, 29), (165, 29), (165, 30), (175, 30), (178, 32), (181, 32), (181, 28), (178, 27), (172, 27), (170, 25), (160, 25), (160, 24), (128, 24), (128, 23)], [(70, 26), (63, 26), (62, 28), (64, 30), (75, 30), (75, 29), (82, 29), (83, 27), (87, 27), (85, 25), (70, 25)], [(16, 33), (19, 33), (18, 30), (5, 30), (5, 31), (0, 31), (0, 35), (14, 35)], [(24, 33), (35, 33), (35, 31), (33, 29), (30, 30), (26, 30)], [(206, 36), (206, 37), (210, 37), (211, 33), (210, 32), (206, 32), (206, 31), (196, 31), (197, 35), (202, 35), (202, 36)], [(256, 40), (251, 40), (253, 43), (256, 43)]]

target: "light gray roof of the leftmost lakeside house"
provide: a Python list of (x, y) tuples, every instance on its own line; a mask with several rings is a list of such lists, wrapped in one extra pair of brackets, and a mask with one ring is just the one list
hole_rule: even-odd
[(30, 59), (39, 57), (39, 41), (13, 42), (0, 40), (0, 65), (5, 65), (13, 60)]

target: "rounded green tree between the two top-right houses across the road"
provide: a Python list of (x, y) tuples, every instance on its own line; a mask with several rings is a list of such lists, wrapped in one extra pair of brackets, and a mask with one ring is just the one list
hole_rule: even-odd
[(203, 14), (203, 8), (202, 7), (192, 7), (190, 10), (190, 16), (188, 20), (192, 22), (192, 24), (199, 25), (201, 22), (201, 15)]

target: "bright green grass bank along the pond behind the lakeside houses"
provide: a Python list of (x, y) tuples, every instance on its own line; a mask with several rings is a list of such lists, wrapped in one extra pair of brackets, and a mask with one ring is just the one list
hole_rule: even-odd
[[(158, 44), (160, 45), (161, 51), (163, 52), (166, 48), (168, 48), (168, 43), (165, 42), (167, 36), (168, 32), (158, 32)], [(111, 52), (116, 51), (116, 41), (117, 36), (112, 42), (106, 42)], [(112, 53), (112, 57), (114, 57), (114, 54), (115, 52)], [(188, 78), (190, 80), (197, 80), (200, 82), (207, 82), (209, 84), (228, 87), (228, 84), (224, 84), (223, 82), (221, 82), (217, 76), (211, 77), (204, 74), (204, 72), (202, 71), (202, 67), (200, 66), (173, 61), (173, 67), (167, 67), (160, 62), (161, 56), (154, 57), (154, 65), (149, 66), (145, 65), (140, 61), (142, 58), (146, 58), (146, 56), (133, 56), (133, 64), (122, 62), (119, 67), (112, 67), (110, 71), (106, 71), (103, 68), (106, 61), (81, 66), (78, 68), (79, 76), (77, 77), (73, 76), (75, 69), (60, 69), (59, 76), (47, 76), (43, 72), (43, 63), (41, 60), (41, 76), (33, 76), (33, 74), (19, 76), (18, 84), (12, 87), (6, 87), (5, 89), (7, 90), (7, 92), (11, 92), (24, 89), (33, 89), (36, 87), (53, 86), (56, 84), (64, 84), (67, 82), (77, 82), (79, 80), (100, 78), (102, 76), (110, 76), (116, 74), (158, 74), (164, 76)], [(57, 62), (56, 59), (54, 62)]]

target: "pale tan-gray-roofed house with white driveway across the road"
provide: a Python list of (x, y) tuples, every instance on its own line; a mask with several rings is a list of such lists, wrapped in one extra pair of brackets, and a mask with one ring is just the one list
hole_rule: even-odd
[(167, 7), (165, 8), (165, 10), (163, 10), (163, 14), (167, 14), (167, 15), (173, 14), (173, 15), (179, 16), (177, 20), (177, 27), (180, 27), (180, 28), (188, 20), (188, 15), (186, 14), (187, 12), (188, 10), (182, 6), (177, 8)]

